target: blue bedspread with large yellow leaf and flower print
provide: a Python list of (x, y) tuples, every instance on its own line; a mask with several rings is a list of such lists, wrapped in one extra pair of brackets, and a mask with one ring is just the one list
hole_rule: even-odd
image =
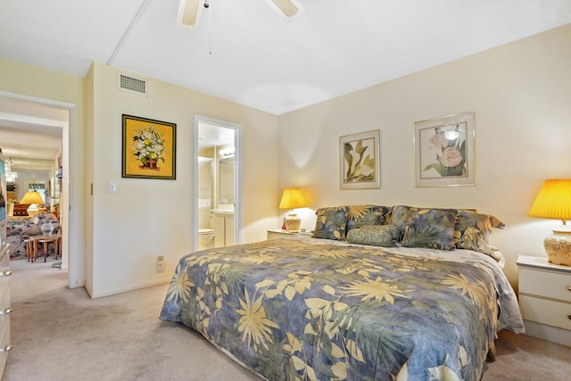
[(523, 330), (484, 254), (327, 241), (188, 254), (160, 318), (269, 380), (479, 380), (496, 332)]

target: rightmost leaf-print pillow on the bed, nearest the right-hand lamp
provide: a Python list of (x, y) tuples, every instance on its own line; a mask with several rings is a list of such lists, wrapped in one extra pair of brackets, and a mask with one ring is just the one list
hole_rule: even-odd
[(492, 228), (504, 228), (500, 219), (490, 214), (478, 214), (473, 211), (459, 211), (456, 219), (456, 247), (459, 249), (474, 250), (485, 253), (495, 258), (494, 251), (488, 244), (488, 237), (492, 234)]

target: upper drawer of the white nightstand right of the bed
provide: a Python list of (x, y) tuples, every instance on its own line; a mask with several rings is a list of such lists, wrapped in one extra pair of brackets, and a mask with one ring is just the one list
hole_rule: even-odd
[(565, 273), (519, 269), (519, 293), (571, 302), (571, 277)]

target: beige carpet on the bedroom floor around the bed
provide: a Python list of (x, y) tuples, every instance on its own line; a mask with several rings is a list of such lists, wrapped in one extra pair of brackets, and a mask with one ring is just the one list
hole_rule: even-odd
[[(158, 319), (167, 285), (91, 300), (47, 263), (12, 261), (4, 381), (260, 380), (201, 335)], [(566, 380), (571, 348), (501, 333), (484, 381)]]

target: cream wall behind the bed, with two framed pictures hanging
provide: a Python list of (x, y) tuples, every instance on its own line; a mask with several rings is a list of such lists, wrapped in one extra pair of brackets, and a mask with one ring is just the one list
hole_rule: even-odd
[[(571, 178), (571, 25), (280, 116), (279, 191), (308, 189), (322, 206), (476, 208), (506, 223), (491, 243), (517, 283), (517, 255), (545, 256), (560, 221), (527, 217), (546, 178)], [(476, 115), (476, 186), (415, 187), (413, 123)], [(338, 137), (381, 131), (381, 189), (339, 190)], [(278, 192), (279, 192), (278, 191)]]

